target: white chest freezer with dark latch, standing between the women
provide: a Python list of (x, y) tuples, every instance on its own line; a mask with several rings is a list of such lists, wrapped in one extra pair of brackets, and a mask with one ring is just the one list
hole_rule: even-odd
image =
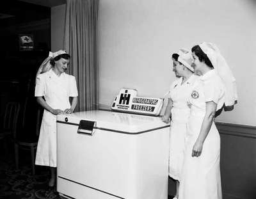
[(169, 134), (156, 116), (58, 115), (57, 191), (77, 199), (166, 199)]

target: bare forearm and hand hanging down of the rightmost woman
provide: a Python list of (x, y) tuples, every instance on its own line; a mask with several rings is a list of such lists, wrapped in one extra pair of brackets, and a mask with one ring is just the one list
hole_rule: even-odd
[(205, 138), (207, 137), (215, 117), (217, 104), (213, 101), (205, 103), (205, 116), (201, 125), (200, 133), (192, 150), (192, 157), (198, 157), (202, 153)]

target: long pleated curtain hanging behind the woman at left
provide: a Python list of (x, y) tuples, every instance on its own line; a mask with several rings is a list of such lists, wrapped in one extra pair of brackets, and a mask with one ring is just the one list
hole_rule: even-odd
[(64, 48), (71, 56), (68, 72), (77, 81), (76, 111), (98, 109), (98, 8), (99, 0), (67, 0)]

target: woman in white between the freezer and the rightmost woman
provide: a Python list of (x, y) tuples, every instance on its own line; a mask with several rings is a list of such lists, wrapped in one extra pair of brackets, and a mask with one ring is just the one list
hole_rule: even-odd
[(189, 116), (187, 99), (191, 93), (192, 85), (198, 76), (193, 74), (194, 68), (191, 67), (191, 63), (193, 62), (191, 52), (181, 49), (178, 54), (172, 55), (172, 60), (173, 72), (175, 72), (175, 76), (178, 79), (170, 86), (168, 105), (162, 120), (166, 123), (171, 122), (169, 176), (176, 180), (175, 198), (178, 198), (184, 154), (184, 137)]

